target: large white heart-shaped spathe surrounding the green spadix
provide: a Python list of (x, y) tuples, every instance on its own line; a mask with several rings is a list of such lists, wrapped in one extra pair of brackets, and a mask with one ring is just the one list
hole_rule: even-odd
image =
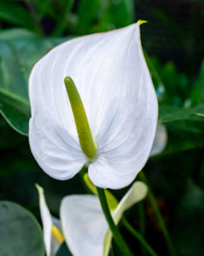
[[(86, 164), (94, 185), (118, 189), (144, 167), (158, 107), (142, 52), (140, 23), (64, 42), (31, 71), (31, 152), (53, 178), (70, 179)], [(66, 76), (76, 85), (96, 144), (91, 159), (81, 149)], [(80, 122), (80, 113), (78, 118)]]

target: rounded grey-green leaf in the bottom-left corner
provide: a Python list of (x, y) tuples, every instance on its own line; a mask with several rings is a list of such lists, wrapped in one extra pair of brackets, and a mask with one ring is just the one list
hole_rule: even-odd
[(0, 202), (0, 254), (43, 256), (42, 229), (35, 217), (18, 204)]

